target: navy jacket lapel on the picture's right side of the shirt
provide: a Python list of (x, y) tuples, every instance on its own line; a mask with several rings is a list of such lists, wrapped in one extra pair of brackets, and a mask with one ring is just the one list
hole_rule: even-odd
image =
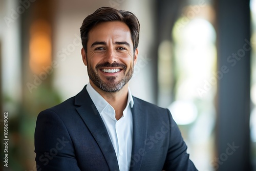
[(133, 97), (133, 149), (130, 170), (140, 170), (147, 135), (147, 111), (140, 101)]

